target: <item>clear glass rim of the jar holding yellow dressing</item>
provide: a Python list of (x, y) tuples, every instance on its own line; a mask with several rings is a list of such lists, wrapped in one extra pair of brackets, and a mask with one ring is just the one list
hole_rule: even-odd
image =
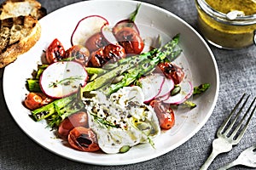
[(198, 7), (201, 8), (201, 10), (211, 16), (214, 20), (235, 26), (247, 26), (256, 24), (256, 14), (237, 16), (236, 19), (230, 20), (227, 17), (227, 14), (212, 8), (205, 0), (196, 0), (196, 3), (198, 4)]

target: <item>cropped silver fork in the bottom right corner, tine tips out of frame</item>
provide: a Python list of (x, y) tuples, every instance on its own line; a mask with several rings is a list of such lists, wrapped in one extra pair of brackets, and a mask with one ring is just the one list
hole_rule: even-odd
[(256, 167), (256, 144), (247, 148), (247, 150), (243, 150), (235, 161), (231, 161), (224, 167), (220, 167), (218, 170), (229, 169), (230, 167), (235, 167), (236, 165)]

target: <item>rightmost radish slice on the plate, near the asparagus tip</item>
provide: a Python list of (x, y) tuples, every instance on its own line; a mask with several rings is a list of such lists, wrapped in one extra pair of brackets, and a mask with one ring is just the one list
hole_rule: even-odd
[(181, 82), (180, 83), (181, 91), (180, 93), (171, 96), (164, 100), (165, 103), (172, 104), (172, 105), (179, 105), (182, 104), (186, 99), (193, 94), (193, 86), (191, 82)]

